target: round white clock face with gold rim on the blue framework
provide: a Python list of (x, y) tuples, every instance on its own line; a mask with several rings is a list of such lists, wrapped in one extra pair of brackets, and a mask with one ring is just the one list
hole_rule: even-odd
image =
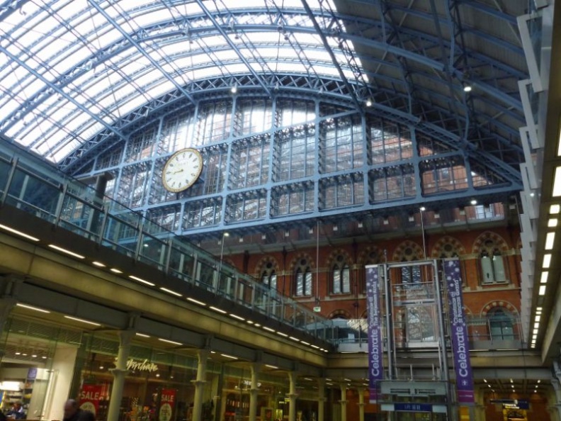
[(203, 170), (203, 157), (191, 147), (171, 155), (164, 165), (162, 182), (166, 190), (179, 192), (188, 189), (197, 181)]

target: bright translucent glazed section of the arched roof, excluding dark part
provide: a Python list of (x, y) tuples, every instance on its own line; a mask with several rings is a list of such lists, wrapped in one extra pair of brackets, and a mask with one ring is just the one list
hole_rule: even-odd
[[(273, 69), (338, 74), (322, 39), (302, 32), (313, 25), (300, 0), (281, 4), (276, 0), (204, 0), (205, 8), (216, 13), (220, 30), (198, 1), (21, 3), (23, 9), (0, 21), (0, 31), (8, 37), (0, 38), (0, 45), (9, 52), (0, 54), (0, 123), (6, 135), (33, 145), (49, 159), (64, 159), (106, 128), (94, 120), (96, 116), (113, 124), (193, 79), (250, 71), (259, 77)], [(308, 4), (319, 9), (317, 0)], [(331, 1), (322, 2), (323, 7), (331, 5)], [(300, 28), (291, 31), (288, 40), (276, 27), (278, 7), (291, 8), (283, 21)], [(263, 13), (256, 13), (259, 9)], [(235, 34), (229, 28), (232, 19)], [(178, 36), (178, 30), (185, 31), (185, 36)], [(336, 47), (336, 40), (330, 43)], [(336, 60), (347, 67), (340, 50), (334, 48), (334, 52)], [(26, 65), (17, 64), (16, 57)], [(345, 72), (352, 77), (352, 72)], [(29, 102), (33, 106), (24, 109)], [(2, 116), (17, 119), (2, 122)]]

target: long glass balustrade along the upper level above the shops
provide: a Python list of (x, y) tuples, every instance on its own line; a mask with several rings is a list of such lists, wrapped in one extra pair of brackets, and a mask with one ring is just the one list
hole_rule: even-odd
[(220, 262), (213, 254), (179, 240), (89, 186), (55, 169), (13, 159), (2, 150), (0, 200), (0, 206), (18, 208), (318, 339), (334, 337), (331, 320)]

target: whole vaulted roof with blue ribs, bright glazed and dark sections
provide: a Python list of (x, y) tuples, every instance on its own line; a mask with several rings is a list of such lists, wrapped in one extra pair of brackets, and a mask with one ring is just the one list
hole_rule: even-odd
[[(197, 103), (200, 81), (243, 83), (236, 77), (247, 75), (271, 95), (298, 76), (306, 89), (326, 94), (343, 86), (356, 108), (373, 101), (379, 110), (429, 121), (445, 137), (516, 167), (523, 124), (516, 82), (526, 64), (515, 17), (525, 6), (4, 1), (0, 133), (60, 163), (103, 131), (121, 135), (120, 121), (165, 94)], [(466, 96), (465, 84), (480, 89)]]

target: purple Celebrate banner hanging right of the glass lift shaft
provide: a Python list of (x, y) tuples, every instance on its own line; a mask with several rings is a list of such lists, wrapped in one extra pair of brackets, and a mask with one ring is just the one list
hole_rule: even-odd
[(444, 276), (448, 287), (448, 308), (450, 314), (450, 335), (452, 354), (458, 390), (458, 403), (474, 403), (473, 377), (470, 362), (470, 347), (467, 340), (467, 326), (463, 311), (462, 275), (460, 260), (444, 261)]

